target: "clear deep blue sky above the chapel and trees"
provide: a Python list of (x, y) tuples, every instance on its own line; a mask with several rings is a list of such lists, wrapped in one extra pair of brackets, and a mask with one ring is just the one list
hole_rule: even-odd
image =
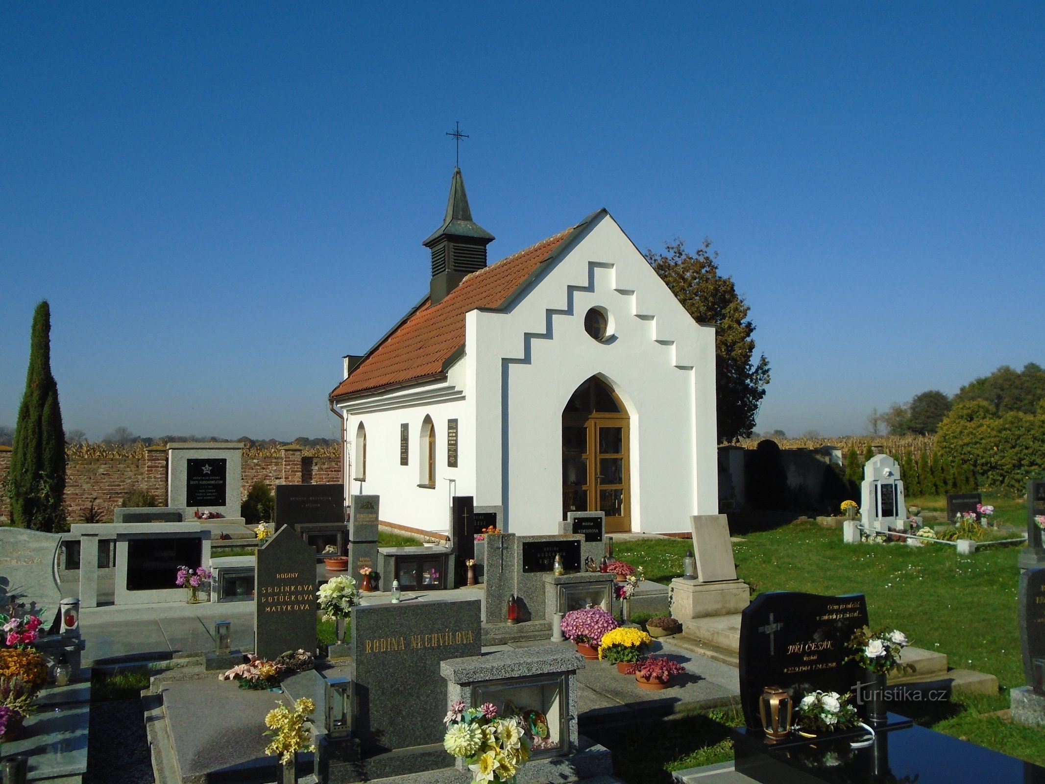
[[(380, 6), (380, 7), (375, 7)], [(715, 240), (759, 429), (1045, 364), (1041, 3), (0, 5), (0, 424), (332, 437), (454, 167), (501, 258), (606, 207)]]

